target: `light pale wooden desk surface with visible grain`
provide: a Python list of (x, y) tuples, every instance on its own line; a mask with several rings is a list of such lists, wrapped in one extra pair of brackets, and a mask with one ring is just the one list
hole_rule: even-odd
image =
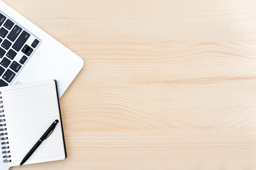
[(10, 170), (256, 170), (254, 0), (3, 0), (81, 56), (68, 157)]

